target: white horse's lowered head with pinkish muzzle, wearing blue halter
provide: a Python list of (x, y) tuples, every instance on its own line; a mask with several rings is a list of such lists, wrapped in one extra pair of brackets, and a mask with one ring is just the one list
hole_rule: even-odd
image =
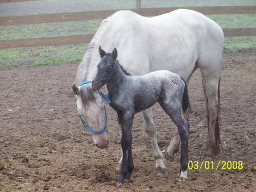
[[(76, 94), (77, 111), (82, 123), (94, 131), (102, 131), (106, 126), (105, 105), (98, 91), (92, 88), (92, 84), (77, 86), (72, 85)], [(108, 147), (109, 139), (106, 131), (101, 134), (93, 133), (93, 141), (96, 147), (104, 149)]]

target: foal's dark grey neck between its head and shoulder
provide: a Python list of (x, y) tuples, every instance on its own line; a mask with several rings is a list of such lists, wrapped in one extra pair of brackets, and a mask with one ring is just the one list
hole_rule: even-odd
[(107, 89), (109, 93), (113, 93), (116, 90), (119, 89), (119, 87), (126, 84), (127, 80), (130, 78), (130, 76), (127, 76), (125, 72), (121, 69), (121, 66), (119, 65), (118, 61), (115, 61), (115, 67), (113, 71), (113, 76), (110, 79), (109, 82), (107, 82)]

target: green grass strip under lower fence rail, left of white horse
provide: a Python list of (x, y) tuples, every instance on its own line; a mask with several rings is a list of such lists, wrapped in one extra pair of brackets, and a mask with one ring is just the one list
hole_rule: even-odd
[(0, 49), (0, 69), (20, 66), (71, 64), (82, 60), (88, 44)]

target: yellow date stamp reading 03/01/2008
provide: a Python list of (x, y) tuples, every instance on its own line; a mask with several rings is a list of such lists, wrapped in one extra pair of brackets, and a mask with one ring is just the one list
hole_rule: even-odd
[(242, 161), (188, 161), (188, 169), (211, 169), (211, 170), (218, 170), (218, 169), (243, 169), (243, 162)]

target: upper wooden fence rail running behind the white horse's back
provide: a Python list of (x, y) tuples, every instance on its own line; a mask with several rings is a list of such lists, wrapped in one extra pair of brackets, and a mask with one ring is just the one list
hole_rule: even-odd
[[(217, 7), (164, 7), (129, 9), (142, 16), (156, 16), (174, 11), (176, 9), (191, 9), (204, 15), (220, 14), (256, 14), (256, 6), (217, 6)], [(70, 22), (76, 20), (105, 19), (118, 10), (81, 11), (41, 15), (5, 16), (0, 18), (0, 26), (17, 24), (37, 24), (53, 22)]]

